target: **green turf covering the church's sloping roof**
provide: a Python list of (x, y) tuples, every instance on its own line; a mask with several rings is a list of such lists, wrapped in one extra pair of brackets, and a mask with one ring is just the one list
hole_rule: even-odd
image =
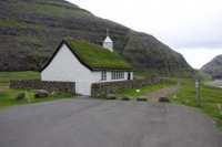
[(112, 53), (102, 46), (73, 39), (67, 39), (65, 43), (73, 52), (91, 69), (109, 69), (109, 70), (131, 70), (128, 64), (117, 53)]

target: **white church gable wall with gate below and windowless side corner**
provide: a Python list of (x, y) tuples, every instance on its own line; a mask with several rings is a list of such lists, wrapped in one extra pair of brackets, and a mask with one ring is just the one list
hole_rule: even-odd
[(91, 95), (91, 84), (99, 82), (101, 73), (92, 73), (82, 65), (65, 44), (61, 46), (50, 65), (41, 72), (42, 81), (75, 82), (77, 94)]

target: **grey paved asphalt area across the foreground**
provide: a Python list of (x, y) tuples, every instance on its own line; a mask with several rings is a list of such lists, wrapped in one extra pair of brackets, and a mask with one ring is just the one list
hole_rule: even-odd
[(70, 98), (1, 108), (0, 147), (222, 147), (222, 136), (184, 106)]

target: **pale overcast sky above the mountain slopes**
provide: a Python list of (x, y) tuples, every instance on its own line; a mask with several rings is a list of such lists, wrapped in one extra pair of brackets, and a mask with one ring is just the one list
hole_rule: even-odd
[(154, 35), (200, 69), (222, 54), (222, 0), (68, 0)]

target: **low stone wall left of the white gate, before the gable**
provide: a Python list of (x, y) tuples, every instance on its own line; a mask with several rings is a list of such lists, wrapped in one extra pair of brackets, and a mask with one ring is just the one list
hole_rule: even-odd
[(47, 90), (50, 92), (71, 92), (75, 93), (74, 82), (51, 82), (41, 80), (12, 80), (11, 88)]

